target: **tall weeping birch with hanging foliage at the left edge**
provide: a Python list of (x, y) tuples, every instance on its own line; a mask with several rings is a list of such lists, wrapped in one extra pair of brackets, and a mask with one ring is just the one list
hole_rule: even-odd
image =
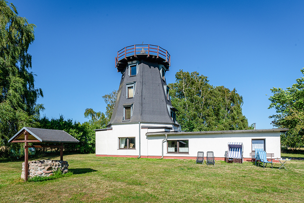
[(16, 7), (0, 0), (0, 146), (23, 126), (36, 126), (43, 105), (42, 90), (34, 87), (32, 56), (34, 24), (18, 16)]

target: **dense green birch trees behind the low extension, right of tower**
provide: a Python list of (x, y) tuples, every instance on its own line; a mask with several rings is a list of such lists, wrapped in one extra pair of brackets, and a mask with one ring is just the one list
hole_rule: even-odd
[(243, 98), (236, 90), (213, 87), (198, 72), (175, 74), (169, 84), (172, 105), (178, 109), (177, 121), (185, 131), (218, 131), (251, 129), (242, 114)]

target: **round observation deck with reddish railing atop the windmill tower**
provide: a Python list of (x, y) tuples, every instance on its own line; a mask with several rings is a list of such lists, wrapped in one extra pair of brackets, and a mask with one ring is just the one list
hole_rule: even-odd
[(135, 44), (125, 47), (117, 52), (115, 67), (118, 72), (128, 64), (128, 61), (145, 60), (163, 65), (166, 70), (170, 67), (170, 54), (160, 46), (151, 44)]

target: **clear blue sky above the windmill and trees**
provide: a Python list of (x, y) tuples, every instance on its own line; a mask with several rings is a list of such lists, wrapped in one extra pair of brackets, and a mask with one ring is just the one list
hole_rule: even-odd
[(49, 118), (82, 123), (86, 108), (105, 112), (102, 96), (121, 78), (117, 51), (142, 42), (171, 54), (167, 83), (183, 69), (236, 88), (243, 114), (258, 129), (272, 128), (270, 89), (302, 76), (303, 1), (9, 2), (37, 26), (29, 53), (44, 93), (38, 103)]

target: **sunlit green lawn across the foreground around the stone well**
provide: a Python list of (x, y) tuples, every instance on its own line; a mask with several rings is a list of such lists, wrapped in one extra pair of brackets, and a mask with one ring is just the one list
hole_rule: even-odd
[[(52, 157), (59, 159), (59, 157)], [(251, 162), (216, 166), (195, 160), (67, 155), (74, 175), (44, 182), (20, 179), (22, 161), (0, 160), (1, 202), (303, 202), (304, 162), (288, 170)], [(271, 165), (270, 165), (271, 166)]]

